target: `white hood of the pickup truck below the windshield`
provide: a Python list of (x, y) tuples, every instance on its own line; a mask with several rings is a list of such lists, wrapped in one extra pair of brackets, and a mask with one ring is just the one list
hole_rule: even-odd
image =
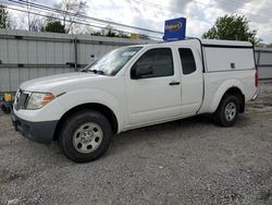
[(108, 77), (111, 76), (73, 72), (26, 81), (21, 84), (20, 88), (27, 92), (66, 92), (66, 89), (71, 91), (84, 85), (85, 82), (88, 82), (89, 84), (90, 81), (98, 81)]

